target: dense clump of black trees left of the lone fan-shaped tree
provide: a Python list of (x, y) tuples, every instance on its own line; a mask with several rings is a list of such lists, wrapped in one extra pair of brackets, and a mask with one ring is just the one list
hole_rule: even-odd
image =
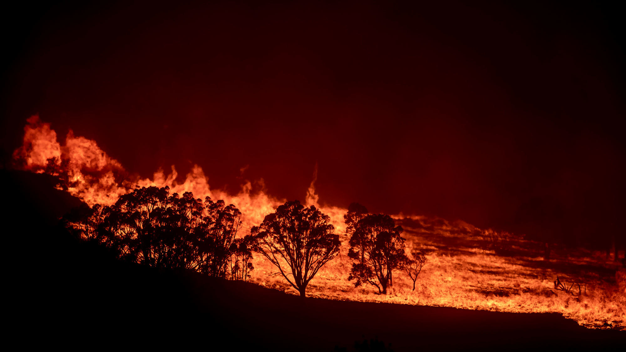
[[(146, 266), (232, 277), (233, 256), (245, 257), (246, 265), (252, 259), (235, 240), (242, 222), (234, 205), (210, 197), (202, 202), (191, 192), (170, 195), (169, 187), (135, 189), (110, 207), (76, 209), (65, 220), (79, 237)], [(250, 270), (251, 264), (244, 277)]]

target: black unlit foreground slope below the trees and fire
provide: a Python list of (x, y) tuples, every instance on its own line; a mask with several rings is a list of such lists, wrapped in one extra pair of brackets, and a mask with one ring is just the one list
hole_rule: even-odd
[(585, 329), (558, 314), (329, 301), (116, 261), (56, 218), (80, 204), (44, 175), (0, 170), (8, 189), (5, 330), (23, 347), (203, 351), (603, 350), (626, 331)]

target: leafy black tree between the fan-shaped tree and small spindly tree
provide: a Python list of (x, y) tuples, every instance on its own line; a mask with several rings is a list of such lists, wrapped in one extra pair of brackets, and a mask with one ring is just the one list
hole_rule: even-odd
[(348, 251), (355, 261), (348, 280), (356, 280), (355, 287), (371, 284), (379, 294), (387, 293), (391, 272), (406, 257), (402, 231), (389, 215), (367, 215), (357, 222)]

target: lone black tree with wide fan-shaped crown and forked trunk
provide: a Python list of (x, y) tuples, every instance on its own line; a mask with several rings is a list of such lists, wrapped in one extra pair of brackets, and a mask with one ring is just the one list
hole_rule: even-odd
[(295, 200), (252, 228), (254, 251), (272, 262), (302, 298), (317, 271), (339, 253), (341, 242), (330, 220), (313, 205), (307, 208)]

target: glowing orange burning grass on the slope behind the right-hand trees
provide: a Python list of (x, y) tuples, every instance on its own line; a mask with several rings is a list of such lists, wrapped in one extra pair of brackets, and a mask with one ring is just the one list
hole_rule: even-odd
[[(415, 291), (403, 272), (394, 272), (389, 294), (374, 287), (354, 287), (346, 280), (351, 262), (344, 239), (342, 255), (329, 262), (309, 284), (309, 296), (514, 313), (561, 313), (588, 328), (626, 329), (626, 292), (620, 291), (611, 272), (615, 268), (585, 251), (559, 253), (545, 261), (539, 244), (515, 241), (515, 257), (481, 249), (480, 237), (467, 224), (449, 224), (424, 217), (398, 219), (420, 222), (421, 229), (407, 226), (407, 246), (426, 252), (428, 262), (418, 277)], [(451, 244), (455, 244), (452, 246)], [(537, 248), (536, 251), (533, 248)], [(521, 254), (520, 254), (521, 253)], [(258, 262), (254, 281), (289, 292), (269, 267)], [(559, 276), (569, 284), (582, 282), (582, 294), (555, 289)]]

